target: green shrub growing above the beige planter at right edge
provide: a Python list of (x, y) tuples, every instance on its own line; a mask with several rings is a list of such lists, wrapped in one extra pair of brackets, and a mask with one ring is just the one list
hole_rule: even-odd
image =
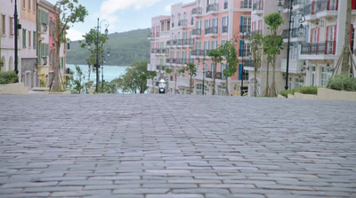
[(328, 88), (338, 91), (356, 91), (356, 78), (350, 75), (335, 75), (328, 80)]

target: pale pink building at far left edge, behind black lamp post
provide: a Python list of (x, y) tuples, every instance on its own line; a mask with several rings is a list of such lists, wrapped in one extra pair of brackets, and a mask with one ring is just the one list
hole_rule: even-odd
[[(14, 1), (7, 1), (6, 4), (1, 4), (1, 49), (0, 49), (0, 71), (13, 71), (14, 70)], [(21, 14), (21, 5), (17, 4), (18, 15)], [(20, 17), (19, 17), (20, 19)], [(18, 65), (21, 64), (21, 45), (20, 45), (20, 30), (18, 30)], [(18, 68), (20, 72), (20, 67)], [(21, 77), (21, 75), (19, 76)], [(20, 78), (21, 81), (21, 78)]]

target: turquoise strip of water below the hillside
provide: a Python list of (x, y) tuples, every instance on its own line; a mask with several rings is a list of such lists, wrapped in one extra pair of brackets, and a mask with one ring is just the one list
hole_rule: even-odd
[[(83, 75), (85, 75), (85, 80), (88, 77), (88, 66), (87, 65), (78, 65), (80, 69), (82, 69)], [(74, 78), (77, 78), (77, 71), (76, 67), (73, 64), (67, 64), (67, 68), (70, 68), (71, 71), (74, 71)], [(128, 66), (104, 66), (104, 81), (110, 82), (114, 80), (115, 78), (119, 77), (120, 75), (124, 75), (126, 68)], [(101, 69), (99, 70), (100, 72), (100, 81), (101, 81)], [(92, 71), (90, 74), (90, 79), (92, 81), (95, 81), (96, 79), (96, 73)]]

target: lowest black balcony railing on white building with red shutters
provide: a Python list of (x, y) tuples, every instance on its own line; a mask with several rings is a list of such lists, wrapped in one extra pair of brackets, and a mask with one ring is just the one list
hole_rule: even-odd
[(327, 41), (322, 43), (304, 43), (302, 44), (303, 55), (324, 55), (335, 53), (335, 41)]

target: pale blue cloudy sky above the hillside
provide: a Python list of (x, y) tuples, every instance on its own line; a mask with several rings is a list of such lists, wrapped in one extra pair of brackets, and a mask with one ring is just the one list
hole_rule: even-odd
[[(57, 0), (47, 0), (55, 4)], [(84, 23), (76, 23), (69, 28), (71, 41), (82, 40), (91, 28), (96, 28), (98, 17), (101, 33), (104, 33), (106, 21), (109, 22), (109, 34), (126, 32), (139, 28), (150, 28), (152, 17), (170, 15), (171, 5), (190, 3), (195, 0), (78, 0), (85, 6), (89, 15)]]

